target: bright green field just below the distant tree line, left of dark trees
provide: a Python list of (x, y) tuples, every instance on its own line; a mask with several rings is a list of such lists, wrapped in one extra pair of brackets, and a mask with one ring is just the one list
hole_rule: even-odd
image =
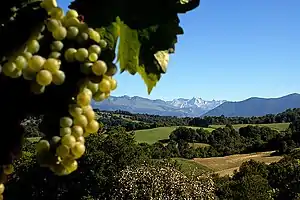
[[(179, 126), (171, 126), (171, 127), (159, 127), (145, 130), (137, 130), (135, 131), (135, 139), (139, 142), (146, 142), (149, 144), (153, 144), (159, 140), (169, 139), (169, 135), (173, 130), (175, 130)], [(200, 127), (189, 127), (193, 129), (198, 129)], [(204, 128), (208, 131), (213, 131), (213, 128)]]

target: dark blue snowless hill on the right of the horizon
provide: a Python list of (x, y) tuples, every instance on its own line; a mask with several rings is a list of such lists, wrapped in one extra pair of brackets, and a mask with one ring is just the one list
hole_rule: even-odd
[(225, 102), (203, 116), (263, 116), (277, 114), (288, 108), (300, 108), (300, 94), (294, 93), (279, 98), (252, 97), (239, 102)]

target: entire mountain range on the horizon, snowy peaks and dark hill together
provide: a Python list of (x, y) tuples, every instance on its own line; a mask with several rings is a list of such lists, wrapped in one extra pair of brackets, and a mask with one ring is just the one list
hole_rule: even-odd
[(244, 101), (226, 100), (206, 101), (201, 98), (178, 98), (171, 101), (148, 99), (143, 97), (111, 96), (102, 102), (93, 102), (100, 110), (124, 110), (132, 113), (151, 115), (199, 117), (199, 116), (262, 116), (277, 114), (288, 108), (300, 108), (300, 94), (289, 94), (280, 98), (252, 97)]

